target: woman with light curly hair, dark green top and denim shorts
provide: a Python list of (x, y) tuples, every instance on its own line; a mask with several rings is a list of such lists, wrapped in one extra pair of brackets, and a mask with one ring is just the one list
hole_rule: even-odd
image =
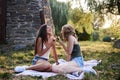
[(66, 24), (62, 26), (61, 34), (62, 38), (67, 42), (67, 46), (65, 46), (61, 40), (58, 40), (58, 42), (63, 46), (67, 54), (68, 62), (53, 65), (52, 71), (58, 73), (72, 73), (75, 71), (82, 72), (84, 66), (83, 57), (75, 30), (71, 25)]

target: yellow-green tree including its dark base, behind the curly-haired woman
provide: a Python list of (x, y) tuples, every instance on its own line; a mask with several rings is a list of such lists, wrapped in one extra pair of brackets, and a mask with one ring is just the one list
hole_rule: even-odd
[(85, 13), (79, 8), (72, 9), (69, 13), (68, 23), (74, 26), (78, 40), (90, 40), (90, 35), (93, 32), (93, 14)]

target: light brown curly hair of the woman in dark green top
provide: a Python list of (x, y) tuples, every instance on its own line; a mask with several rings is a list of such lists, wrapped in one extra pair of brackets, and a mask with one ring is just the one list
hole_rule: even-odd
[(63, 35), (64, 39), (66, 41), (68, 41), (69, 35), (73, 35), (74, 37), (77, 38), (75, 30), (74, 30), (74, 28), (71, 25), (69, 25), (69, 24), (63, 25), (62, 26), (62, 30), (63, 30), (63, 33), (64, 33), (64, 35)]

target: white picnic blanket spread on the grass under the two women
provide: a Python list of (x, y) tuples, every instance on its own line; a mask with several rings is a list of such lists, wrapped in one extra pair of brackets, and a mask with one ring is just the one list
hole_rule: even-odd
[[(66, 62), (64, 59), (59, 59), (58, 61), (60, 64)], [(87, 65), (88, 67), (91, 67), (93, 69), (93, 67), (97, 66), (97, 64), (99, 64), (100, 62), (101, 62), (101, 60), (100, 61), (89, 60), (89, 61), (84, 61), (84, 65)], [(86, 68), (88, 68), (88, 67), (86, 67)], [(97, 73), (95, 73), (95, 74), (97, 75)], [(56, 76), (58, 74), (54, 73), (54, 72), (38, 72), (38, 71), (34, 71), (34, 70), (25, 70), (21, 73), (15, 74), (15, 76), (19, 76), (19, 75), (42, 76), (42, 78), (45, 79), (45, 78), (48, 78), (51, 76)], [(74, 76), (72, 74), (63, 74), (63, 75), (65, 75), (69, 79), (77, 79), (77, 80), (79, 79), (80, 80), (80, 79), (84, 78), (84, 72), (82, 72), (80, 76)]]

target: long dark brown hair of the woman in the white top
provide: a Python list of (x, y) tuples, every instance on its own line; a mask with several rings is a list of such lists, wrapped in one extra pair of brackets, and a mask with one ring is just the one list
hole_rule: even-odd
[(47, 24), (41, 25), (39, 30), (38, 30), (38, 35), (36, 37), (36, 43), (35, 43), (35, 54), (37, 54), (37, 42), (38, 42), (39, 37), (42, 40), (42, 49), (43, 49), (43, 43), (48, 41), (48, 38), (47, 38)]

